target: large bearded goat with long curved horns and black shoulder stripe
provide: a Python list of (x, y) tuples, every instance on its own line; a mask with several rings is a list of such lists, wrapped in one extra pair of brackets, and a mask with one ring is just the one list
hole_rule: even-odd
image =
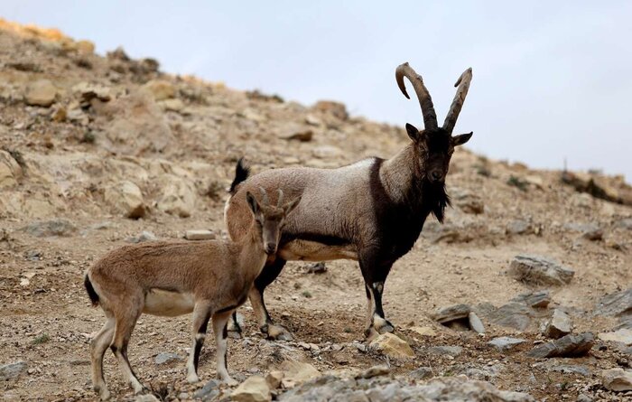
[(283, 327), (274, 325), (264, 304), (265, 287), (281, 273), (287, 260), (358, 260), (367, 290), (365, 334), (372, 338), (376, 332), (394, 331), (382, 309), (386, 276), (393, 263), (413, 248), (430, 213), (443, 220), (443, 210), (450, 204), (445, 177), (452, 152), (472, 136), (451, 136), (468, 93), (471, 69), (457, 81), (456, 96), (441, 127), (422, 77), (408, 63), (397, 67), (395, 79), (409, 98), (404, 77), (412, 82), (419, 98), (425, 129), (406, 124), (413, 142), (391, 159), (368, 158), (338, 169), (274, 169), (251, 178), (248, 169), (237, 164), (233, 195), (225, 209), (228, 232), (235, 240), (243, 238), (250, 225), (245, 206), (248, 190), (282, 186), (293, 197), (302, 196), (301, 205), (283, 229), (275, 258), (268, 258), (249, 294), (261, 331), (268, 337), (291, 337)]

